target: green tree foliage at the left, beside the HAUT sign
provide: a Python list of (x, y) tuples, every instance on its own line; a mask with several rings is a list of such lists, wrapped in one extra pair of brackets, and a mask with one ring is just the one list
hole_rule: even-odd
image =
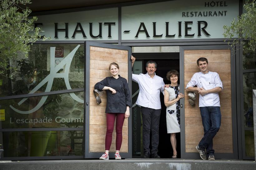
[(10, 60), (16, 60), (19, 56), (28, 56), (29, 43), (37, 40), (46, 40), (39, 37), (42, 29), (34, 29), (37, 17), (28, 18), (31, 10), (21, 9), (19, 5), (31, 3), (30, 0), (1, 0), (0, 3), (0, 75), (8, 76), (8, 70), (15, 70), (9, 65)]

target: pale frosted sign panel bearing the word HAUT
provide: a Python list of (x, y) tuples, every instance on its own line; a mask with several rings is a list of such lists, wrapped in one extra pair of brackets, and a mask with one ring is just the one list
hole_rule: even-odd
[(53, 40), (117, 40), (118, 8), (42, 15), (35, 26)]

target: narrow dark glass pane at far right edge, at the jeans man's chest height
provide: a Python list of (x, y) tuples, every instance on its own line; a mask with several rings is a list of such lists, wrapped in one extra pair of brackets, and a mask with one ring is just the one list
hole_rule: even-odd
[(253, 127), (253, 89), (256, 89), (256, 72), (244, 73), (244, 126)]

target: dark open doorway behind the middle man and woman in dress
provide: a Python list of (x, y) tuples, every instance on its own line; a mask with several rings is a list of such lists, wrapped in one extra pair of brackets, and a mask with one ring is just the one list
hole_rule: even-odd
[[(180, 71), (179, 52), (166, 52), (166, 53), (132, 53), (136, 57), (133, 66), (133, 74), (146, 74), (146, 62), (153, 60), (157, 63), (156, 75), (164, 79), (165, 84), (170, 84), (166, 78), (166, 73), (170, 70)], [(143, 157), (143, 143), (142, 143), (142, 118), (140, 107), (136, 105), (136, 100), (139, 94), (139, 86), (136, 82), (132, 82), (132, 145), (133, 145), (133, 158)], [(160, 93), (161, 101), (161, 116), (159, 125), (159, 146), (158, 154), (161, 158), (170, 158), (173, 155), (172, 146), (170, 143), (170, 134), (166, 129), (166, 107), (164, 104), (164, 95)], [(151, 139), (151, 136), (150, 136)], [(180, 133), (176, 134), (177, 139), (177, 152), (180, 158)], [(151, 146), (151, 145), (150, 145)]]

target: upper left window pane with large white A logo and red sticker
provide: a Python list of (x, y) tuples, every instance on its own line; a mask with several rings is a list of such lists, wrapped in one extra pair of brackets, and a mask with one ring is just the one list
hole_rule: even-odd
[(12, 71), (12, 79), (0, 76), (0, 97), (84, 87), (84, 44), (33, 44), (30, 48), (28, 58), (10, 61), (11, 67), (18, 68)]

